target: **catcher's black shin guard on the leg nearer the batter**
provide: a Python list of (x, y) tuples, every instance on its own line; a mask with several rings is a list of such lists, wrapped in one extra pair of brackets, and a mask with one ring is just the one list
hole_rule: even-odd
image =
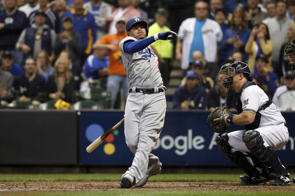
[(227, 133), (218, 135), (215, 139), (216, 144), (220, 151), (236, 166), (241, 168), (246, 174), (250, 177), (259, 177), (260, 172), (250, 164), (250, 162), (246, 159), (247, 155), (244, 155), (240, 151), (235, 151), (231, 153), (231, 146), (228, 143), (228, 135)]

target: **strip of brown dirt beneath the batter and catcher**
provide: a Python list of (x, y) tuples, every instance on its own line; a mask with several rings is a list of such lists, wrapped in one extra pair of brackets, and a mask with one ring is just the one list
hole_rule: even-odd
[[(0, 182), (0, 195), (58, 193), (76, 191), (123, 190), (119, 182)], [(243, 186), (232, 182), (148, 182), (141, 188), (124, 190), (222, 190), (222, 191), (295, 191), (289, 186)]]

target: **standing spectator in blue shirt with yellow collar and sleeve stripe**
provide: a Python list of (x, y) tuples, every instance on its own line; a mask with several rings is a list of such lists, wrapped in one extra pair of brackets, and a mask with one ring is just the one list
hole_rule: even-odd
[[(93, 43), (96, 41), (96, 24), (94, 16), (83, 8), (85, 0), (73, 0), (73, 9), (64, 13), (62, 18), (68, 16), (73, 19), (73, 29), (80, 33), (82, 38), (83, 55), (81, 63), (91, 54)], [(62, 28), (62, 27), (61, 27)]]

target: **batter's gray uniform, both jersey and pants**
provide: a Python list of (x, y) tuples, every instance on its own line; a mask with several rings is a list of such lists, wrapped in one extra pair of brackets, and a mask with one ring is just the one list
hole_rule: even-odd
[[(137, 40), (126, 37), (119, 45), (129, 88), (160, 87), (166, 90), (158, 67), (158, 57), (151, 46), (132, 54), (126, 53), (123, 45), (127, 40)], [(127, 97), (124, 134), (126, 144), (135, 156), (132, 166), (125, 174), (134, 176), (136, 187), (143, 186), (149, 176), (161, 171), (162, 164), (157, 156), (151, 154), (151, 151), (163, 128), (165, 112), (164, 92), (144, 94), (135, 92), (135, 88), (132, 88), (132, 92)]]

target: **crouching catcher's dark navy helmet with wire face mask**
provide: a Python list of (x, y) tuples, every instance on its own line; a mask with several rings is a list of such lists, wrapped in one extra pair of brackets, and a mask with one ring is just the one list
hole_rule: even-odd
[(252, 81), (252, 78), (250, 77), (249, 66), (244, 62), (234, 61), (234, 62), (227, 63), (220, 68), (219, 72), (223, 74), (221, 79), (222, 79), (222, 84), (225, 87), (225, 92), (227, 92), (229, 87), (233, 85), (233, 80), (234, 80), (233, 77), (235, 72), (241, 72), (241, 73), (247, 74), (248, 81)]

